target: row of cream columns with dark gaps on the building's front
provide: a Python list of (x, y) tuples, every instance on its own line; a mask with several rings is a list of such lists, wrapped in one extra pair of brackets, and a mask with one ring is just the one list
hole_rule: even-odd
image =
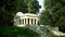
[(20, 24), (21, 25), (37, 25), (38, 24), (38, 20), (37, 18), (21, 18), (20, 20)]

